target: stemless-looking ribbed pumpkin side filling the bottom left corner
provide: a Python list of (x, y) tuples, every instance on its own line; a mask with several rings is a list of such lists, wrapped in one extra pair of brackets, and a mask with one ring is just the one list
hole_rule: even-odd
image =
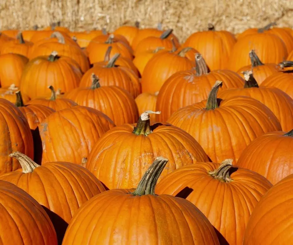
[(1, 244), (57, 245), (45, 210), (17, 186), (0, 181)]

